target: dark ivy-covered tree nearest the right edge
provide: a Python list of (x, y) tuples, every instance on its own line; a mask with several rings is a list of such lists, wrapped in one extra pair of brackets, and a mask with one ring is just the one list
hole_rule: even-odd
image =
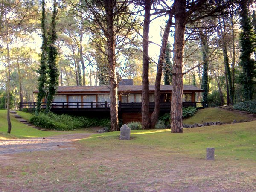
[(254, 52), (254, 38), (253, 38), (253, 26), (249, 17), (247, 1), (241, 0), (241, 34), (240, 34), (240, 46), (241, 56), (239, 65), (242, 67), (242, 72), (239, 75), (239, 82), (243, 87), (244, 100), (250, 100), (253, 98), (253, 78), (256, 75), (256, 64), (251, 58)]

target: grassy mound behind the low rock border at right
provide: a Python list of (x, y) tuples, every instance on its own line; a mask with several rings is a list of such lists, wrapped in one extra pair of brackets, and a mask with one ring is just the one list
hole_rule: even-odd
[(225, 109), (205, 108), (205, 109), (198, 110), (195, 116), (192, 116), (188, 119), (184, 119), (183, 123), (193, 124), (193, 123), (214, 122), (214, 121), (220, 121), (222, 123), (231, 123), (235, 119), (237, 121), (250, 120), (247, 116), (243, 114), (238, 116), (236, 113), (233, 113), (232, 111), (228, 111)]

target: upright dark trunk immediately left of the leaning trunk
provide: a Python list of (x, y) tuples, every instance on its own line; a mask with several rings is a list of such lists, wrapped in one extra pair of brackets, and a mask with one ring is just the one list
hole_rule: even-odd
[(150, 10), (151, 10), (151, 0), (144, 1), (144, 23), (143, 23), (143, 68), (142, 68), (142, 106), (141, 106), (141, 116), (142, 116), (142, 128), (149, 129), (151, 126), (150, 113), (149, 113), (149, 55), (148, 55), (148, 45), (149, 45), (149, 26), (150, 26)]

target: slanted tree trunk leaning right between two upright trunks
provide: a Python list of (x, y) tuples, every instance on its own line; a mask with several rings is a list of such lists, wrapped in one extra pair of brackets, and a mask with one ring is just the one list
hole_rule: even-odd
[(160, 54), (159, 54), (158, 64), (157, 64), (157, 76), (155, 80), (155, 90), (154, 90), (155, 106), (154, 106), (154, 111), (151, 115), (151, 128), (155, 127), (158, 120), (159, 113), (160, 113), (160, 84), (161, 84), (161, 77), (162, 77), (162, 70), (163, 70), (163, 61), (166, 55), (166, 46), (167, 46), (171, 25), (172, 25), (172, 15), (169, 15), (169, 19), (166, 23), (166, 27), (163, 33), (162, 46), (160, 49)]

